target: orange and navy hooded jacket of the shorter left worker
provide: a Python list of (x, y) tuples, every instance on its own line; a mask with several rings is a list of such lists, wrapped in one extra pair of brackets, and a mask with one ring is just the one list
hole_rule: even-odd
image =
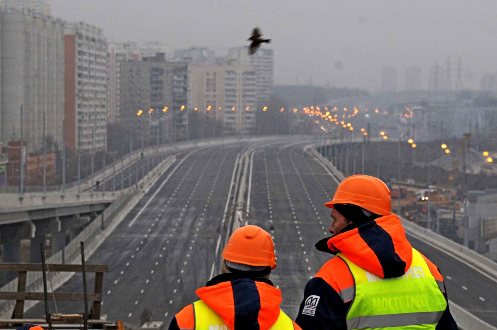
[[(267, 279), (221, 274), (195, 293), (230, 330), (269, 330), (280, 316), (281, 291)], [(183, 308), (171, 320), (169, 330), (195, 329), (193, 313), (193, 304)], [(301, 330), (292, 323), (295, 330)]]

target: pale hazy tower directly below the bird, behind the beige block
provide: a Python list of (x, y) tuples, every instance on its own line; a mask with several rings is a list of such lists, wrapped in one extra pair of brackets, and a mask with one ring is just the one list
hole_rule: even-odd
[(248, 54), (248, 46), (230, 48), (228, 58), (241, 66), (255, 70), (256, 104), (263, 106), (269, 101), (273, 88), (273, 50), (259, 48), (254, 55)]

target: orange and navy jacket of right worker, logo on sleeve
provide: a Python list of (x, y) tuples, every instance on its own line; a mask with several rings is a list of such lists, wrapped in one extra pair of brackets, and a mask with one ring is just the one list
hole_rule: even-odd
[[(316, 248), (332, 255), (341, 252), (354, 264), (383, 278), (404, 275), (413, 261), (411, 243), (395, 214), (361, 225), (352, 223), (331, 238), (319, 241)], [(443, 281), (437, 266), (422, 257), (435, 279)], [(303, 330), (346, 330), (345, 318), (352, 303), (348, 293), (353, 287), (354, 278), (347, 264), (332, 258), (307, 282), (295, 322)], [(447, 299), (446, 292), (443, 294)], [(457, 330), (448, 304), (436, 329)]]

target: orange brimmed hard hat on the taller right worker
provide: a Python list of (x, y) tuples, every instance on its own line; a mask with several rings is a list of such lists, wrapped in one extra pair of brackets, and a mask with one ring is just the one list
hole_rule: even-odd
[(390, 209), (390, 190), (378, 178), (369, 175), (352, 175), (338, 185), (333, 199), (325, 204), (353, 204), (379, 215), (388, 215)]

